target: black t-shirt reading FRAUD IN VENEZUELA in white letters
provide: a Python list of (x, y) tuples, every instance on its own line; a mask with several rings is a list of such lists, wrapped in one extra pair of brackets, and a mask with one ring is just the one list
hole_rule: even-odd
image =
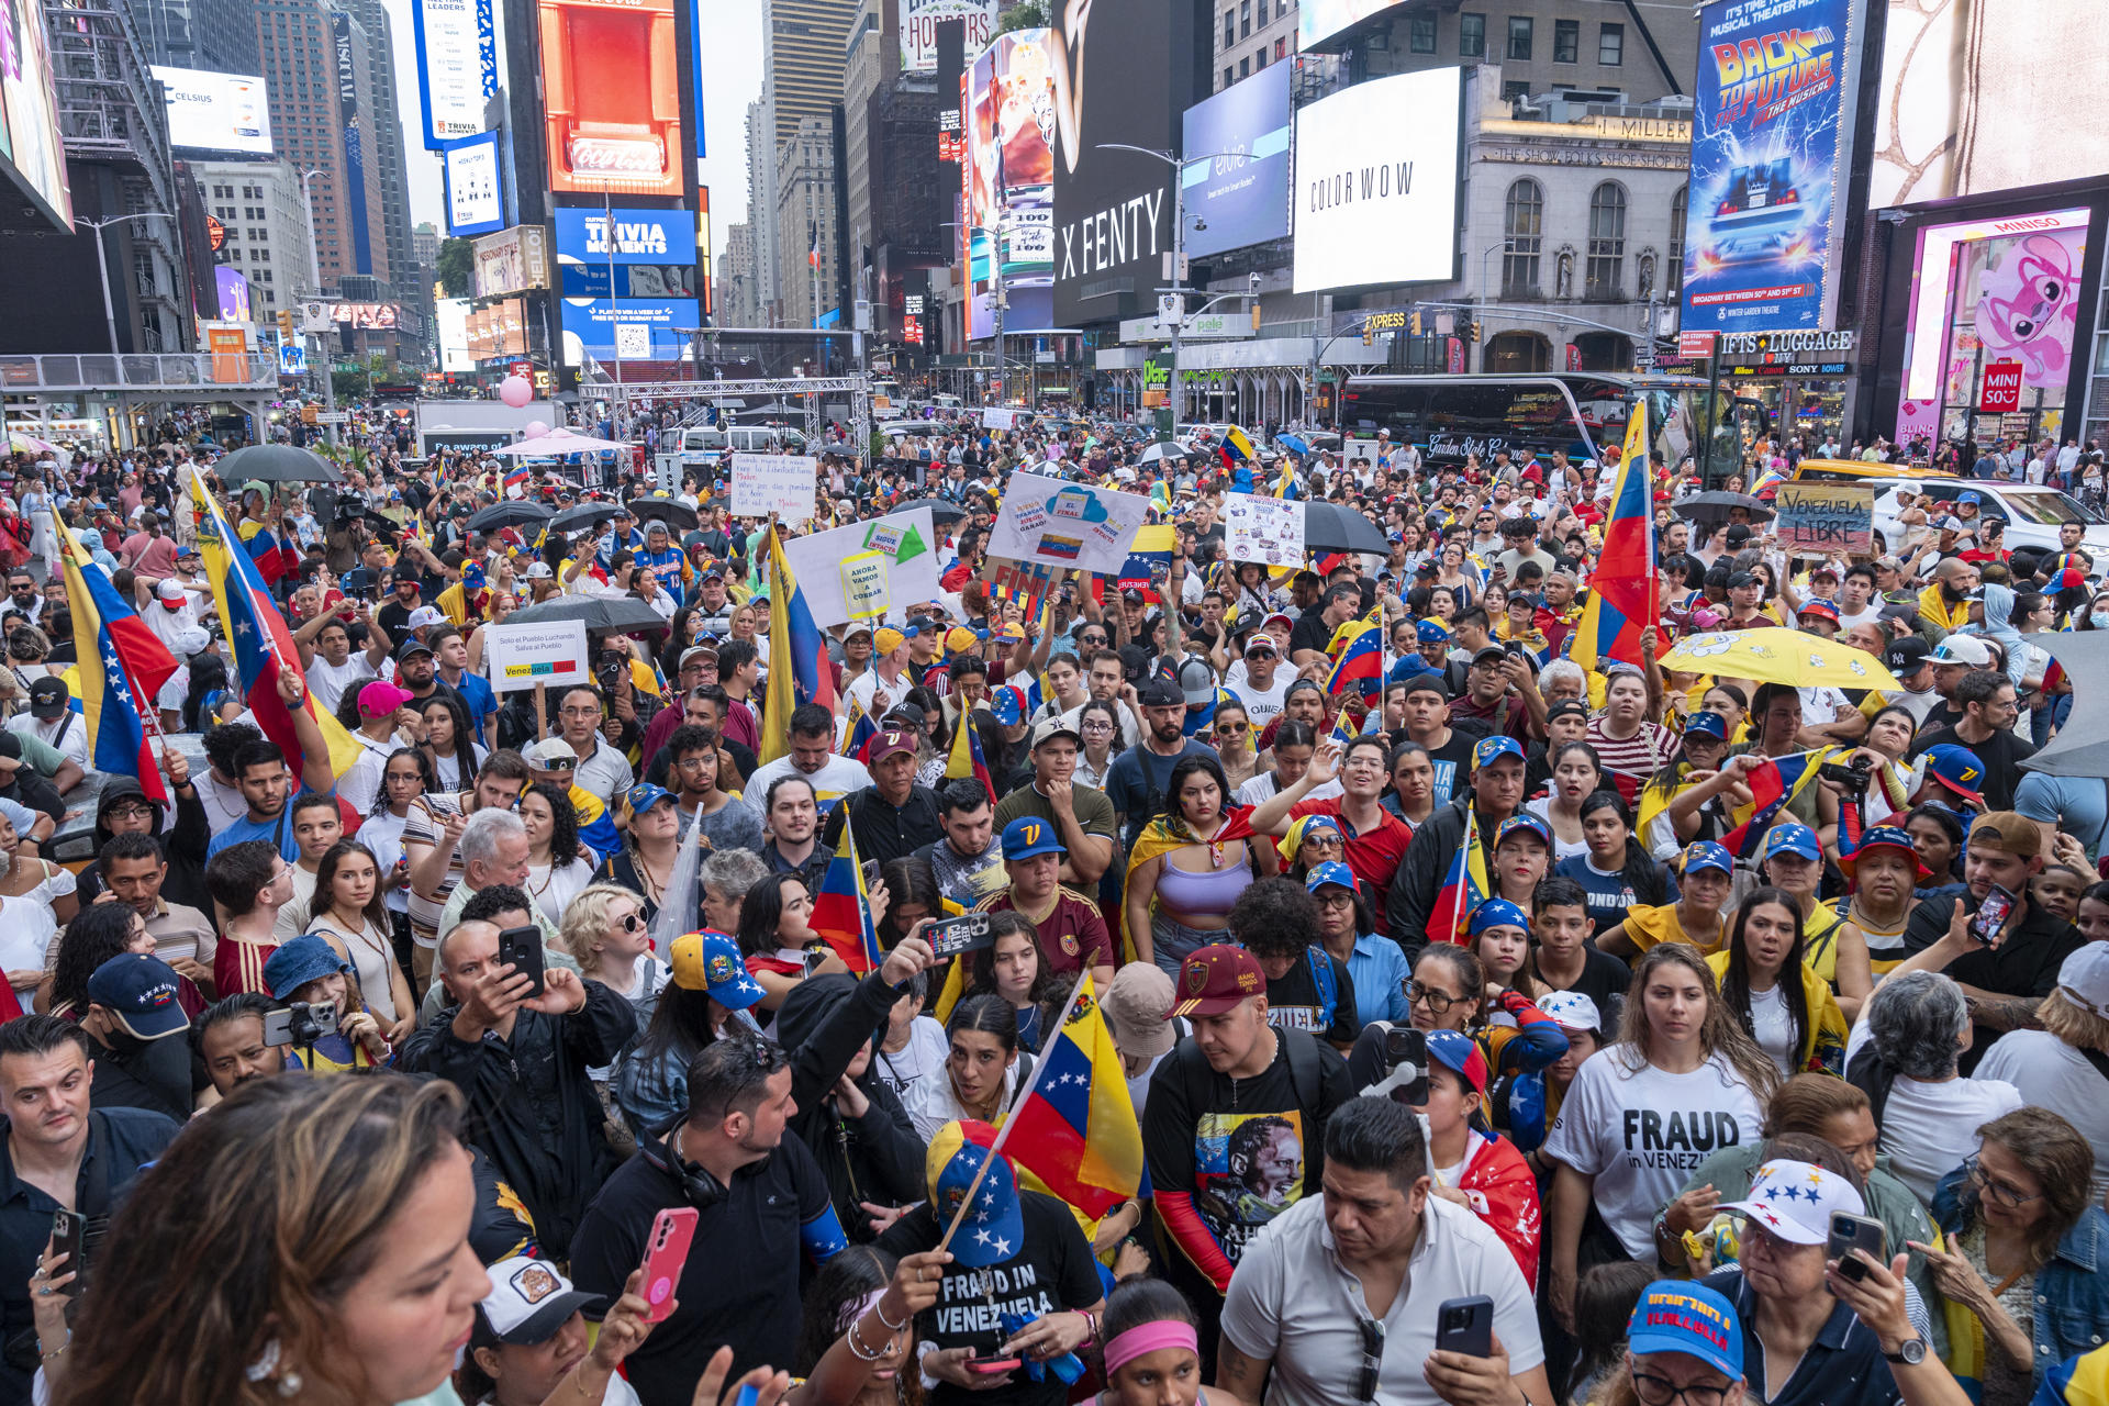
[[(998, 1261), (987, 1269), (968, 1269), (960, 1263), (945, 1267), (945, 1286), (939, 1290), (936, 1307), (922, 1315), (926, 1341), (939, 1347), (972, 1347), (976, 1358), (993, 1358), (1008, 1336), (1000, 1326), (1002, 1313), (1044, 1317), (1088, 1309), (1105, 1296), (1105, 1290), (1099, 1288), (1099, 1269), (1090, 1258), (1090, 1244), (1067, 1206), (1052, 1195), (1021, 1189), (1019, 1212), (1025, 1221), (1025, 1244), (1012, 1258)], [(943, 1233), (945, 1227), (936, 1223), (926, 1202), (890, 1225), (877, 1244), (892, 1254), (917, 1254), (934, 1250)], [(966, 1237), (966, 1233), (968, 1227), (962, 1227), (960, 1235)], [(1063, 1406), (1069, 1389), (1054, 1372), (1044, 1376), (1046, 1381), (1031, 1381), (1021, 1368), (1008, 1385), (987, 1391), (962, 1391), (951, 1383), (939, 1383), (928, 1400), (934, 1406), (949, 1402)]]

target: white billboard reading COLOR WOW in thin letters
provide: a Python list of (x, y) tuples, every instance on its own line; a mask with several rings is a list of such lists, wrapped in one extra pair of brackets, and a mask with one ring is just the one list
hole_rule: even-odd
[(1297, 112), (1295, 291), (1457, 270), (1464, 70), (1358, 82)]

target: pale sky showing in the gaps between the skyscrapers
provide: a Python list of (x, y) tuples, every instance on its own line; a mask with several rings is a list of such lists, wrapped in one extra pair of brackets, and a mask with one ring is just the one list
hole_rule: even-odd
[[(445, 234), (445, 188), (439, 154), (424, 150), (418, 116), (418, 30), (411, 0), (384, 0), (394, 38), (396, 99), (403, 108), (411, 223), (430, 221)], [(725, 228), (747, 219), (747, 103), (761, 97), (761, 4), (704, 0), (696, 51), (709, 55), (713, 78), (702, 97), (702, 183), (711, 188), (713, 257), (723, 257)], [(715, 263), (713, 263), (715, 268)]]

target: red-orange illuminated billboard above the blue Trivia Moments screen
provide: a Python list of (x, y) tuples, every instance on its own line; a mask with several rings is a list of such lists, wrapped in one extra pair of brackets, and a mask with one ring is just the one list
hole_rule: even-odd
[(673, 0), (540, 0), (550, 190), (681, 196)]

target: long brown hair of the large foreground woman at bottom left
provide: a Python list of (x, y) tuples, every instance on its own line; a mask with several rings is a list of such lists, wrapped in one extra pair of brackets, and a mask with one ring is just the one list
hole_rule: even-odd
[(373, 1269), (418, 1183), (460, 1153), (460, 1119), (445, 1079), (236, 1090), (169, 1145), (112, 1221), (57, 1406), (283, 1406), (278, 1383), (245, 1374), (272, 1341), (302, 1374), (304, 1404), (365, 1402), (365, 1383), (325, 1374), (348, 1358), (337, 1303)]

